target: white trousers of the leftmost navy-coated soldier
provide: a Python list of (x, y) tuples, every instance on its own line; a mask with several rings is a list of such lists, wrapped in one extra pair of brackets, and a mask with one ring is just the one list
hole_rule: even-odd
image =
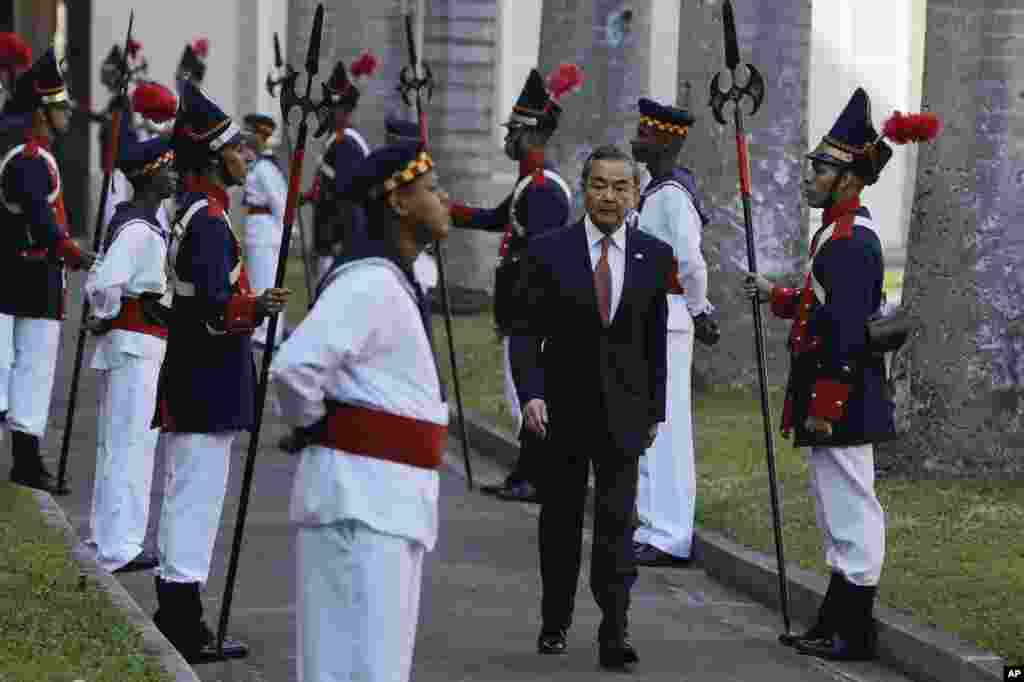
[(7, 428), (43, 437), (50, 416), (60, 321), (13, 317), (14, 357), (7, 383)]

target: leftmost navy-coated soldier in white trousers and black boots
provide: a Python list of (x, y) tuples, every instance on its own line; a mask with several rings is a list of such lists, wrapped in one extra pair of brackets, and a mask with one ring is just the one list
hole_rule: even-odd
[(0, 313), (12, 322), (7, 427), (15, 483), (53, 492), (39, 441), (46, 431), (65, 316), (66, 267), (88, 268), (94, 254), (68, 232), (60, 169), (50, 152), (68, 128), (70, 105), (61, 58), (51, 47), (17, 79), (4, 114), (15, 143), (0, 159)]

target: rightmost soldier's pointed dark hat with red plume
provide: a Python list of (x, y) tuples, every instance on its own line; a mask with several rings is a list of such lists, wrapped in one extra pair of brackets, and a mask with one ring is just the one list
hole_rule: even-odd
[(851, 168), (866, 184), (874, 184), (893, 156), (887, 138), (896, 144), (930, 142), (941, 131), (942, 121), (935, 114), (903, 115), (895, 112), (885, 122), (879, 135), (871, 123), (871, 100), (863, 88), (857, 88), (831, 130), (807, 158)]

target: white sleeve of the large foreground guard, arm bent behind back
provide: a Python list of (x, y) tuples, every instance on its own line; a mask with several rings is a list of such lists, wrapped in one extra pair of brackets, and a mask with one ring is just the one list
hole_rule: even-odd
[(390, 300), (396, 286), (386, 269), (367, 266), (339, 275), (321, 294), (270, 365), (287, 422), (309, 426), (324, 416), (328, 379), (373, 352), (389, 326), (387, 311), (397, 307)]

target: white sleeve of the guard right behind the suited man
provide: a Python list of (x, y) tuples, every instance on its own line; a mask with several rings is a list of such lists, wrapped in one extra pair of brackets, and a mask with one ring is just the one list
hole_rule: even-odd
[(675, 187), (656, 191), (647, 203), (652, 200), (654, 219), (650, 225), (654, 229), (648, 231), (672, 247), (679, 261), (679, 280), (685, 291), (686, 307), (694, 316), (714, 310), (708, 300), (708, 264), (700, 253), (702, 225), (693, 200), (684, 189)]

